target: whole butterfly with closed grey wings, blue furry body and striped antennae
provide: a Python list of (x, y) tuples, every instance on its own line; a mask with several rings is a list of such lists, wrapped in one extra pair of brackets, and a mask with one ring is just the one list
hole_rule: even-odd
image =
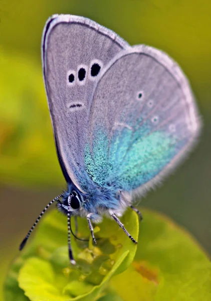
[[(84, 17), (54, 15), (42, 38), (43, 74), (57, 155), (67, 190), (57, 202), (70, 219), (119, 220), (136, 195), (167, 176), (192, 148), (200, 119), (188, 81), (164, 52), (130, 46)], [(73, 233), (73, 232), (72, 232)]]

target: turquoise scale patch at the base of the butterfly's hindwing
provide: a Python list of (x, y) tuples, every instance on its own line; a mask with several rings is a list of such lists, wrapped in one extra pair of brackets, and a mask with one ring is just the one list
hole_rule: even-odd
[[(87, 145), (85, 162), (89, 176), (97, 185), (114, 184), (131, 191), (153, 179), (177, 154), (176, 141), (164, 132), (140, 136), (134, 143), (130, 137), (131, 130), (125, 128), (121, 136), (114, 135), (109, 146), (108, 135), (96, 130), (92, 151)], [(131, 143), (129, 150), (126, 142)]]

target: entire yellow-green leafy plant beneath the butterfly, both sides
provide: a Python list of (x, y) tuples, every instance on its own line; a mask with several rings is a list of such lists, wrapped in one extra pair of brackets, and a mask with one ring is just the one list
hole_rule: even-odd
[[(95, 228), (96, 237), (101, 237), (97, 247), (91, 240), (72, 240), (74, 267), (68, 259), (67, 219), (52, 211), (13, 263), (5, 285), (6, 300), (209, 301), (211, 263), (204, 251), (166, 217), (148, 210), (142, 214), (132, 264), (136, 246), (114, 221), (105, 219)], [(88, 237), (86, 220), (78, 222), (78, 236)], [(137, 238), (135, 213), (127, 212), (122, 222)]]

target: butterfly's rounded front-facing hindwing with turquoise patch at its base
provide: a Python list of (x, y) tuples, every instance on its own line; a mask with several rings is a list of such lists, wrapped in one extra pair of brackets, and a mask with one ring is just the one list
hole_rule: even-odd
[(121, 52), (93, 96), (86, 170), (100, 186), (141, 192), (186, 155), (200, 122), (179, 66), (144, 45)]

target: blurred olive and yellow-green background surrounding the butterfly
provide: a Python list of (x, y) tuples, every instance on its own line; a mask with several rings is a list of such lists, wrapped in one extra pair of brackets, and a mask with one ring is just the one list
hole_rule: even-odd
[(203, 120), (198, 145), (141, 205), (183, 225), (211, 254), (210, 0), (0, 0), (0, 264), (65, 182), (57, 161), (41, 66), (41, 37), (52, 14), (104, 25), (131, 45), (167, 52), (182, 67)]

